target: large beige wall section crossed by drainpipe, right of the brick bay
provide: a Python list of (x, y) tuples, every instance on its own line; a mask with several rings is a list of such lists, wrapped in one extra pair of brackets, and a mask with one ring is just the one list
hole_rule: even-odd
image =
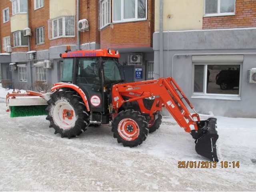
[[(196, 30), (202, 29), (204, 16), (204, 0), (163, 0), (163, 30)], [(159, 31), (159, 4), (155, 0), (155, 31)]]

